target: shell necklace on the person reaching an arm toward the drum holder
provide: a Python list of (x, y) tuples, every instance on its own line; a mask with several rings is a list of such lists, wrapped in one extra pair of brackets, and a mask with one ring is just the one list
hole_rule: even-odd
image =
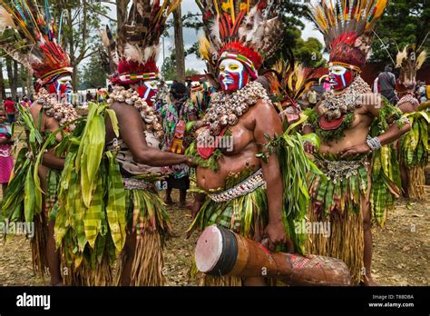
[(161, 140), (163, 137), (162, 126), (159, 123), (157, 116), (150, 105), (142, 99), (137, 91), (132, 89), (126, 90), (123, 86), (115, 86), (112, 94), (109, 94), (108, 103), (112, 104), (118, 102), (120, 104), (129, 104), (134, 106), (142, 116), (143, 121), (146, 123), (148, 131)]

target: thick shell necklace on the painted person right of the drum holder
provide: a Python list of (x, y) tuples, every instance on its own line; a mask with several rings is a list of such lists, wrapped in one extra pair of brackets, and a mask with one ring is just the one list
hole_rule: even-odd
[(343, 94), (335, 94), (333, 90), (323, 94), (323, 100), (318, 106), (318, 112), (327, 121), (337, 120), (342, 115), (353, 113), (363, 105), (363, 94), (371, 92), (370, 86), (358, 75)]

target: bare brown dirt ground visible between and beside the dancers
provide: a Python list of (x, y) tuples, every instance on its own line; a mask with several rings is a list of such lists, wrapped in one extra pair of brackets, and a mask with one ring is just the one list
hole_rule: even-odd
[[(177, 194), (173, 199), (178, 201)], [(430, 285), (430, 186), (425, 202), (396, 203), (396, 211), (388, 216), (386, 227), (374, 227), (373, 266), (375, 281), (381, 285)], [(169, 214), (177, 236), (166, 243), (164, 250), (166, 283), (169, 286), (195, 285), (188, 272), (198, 234), (185, 238), (191, 218), (190, 211), (169, 206)], [(0, 244), (0, 285), (48, 285), (34, 276), (29, 242), (17, 236)]]

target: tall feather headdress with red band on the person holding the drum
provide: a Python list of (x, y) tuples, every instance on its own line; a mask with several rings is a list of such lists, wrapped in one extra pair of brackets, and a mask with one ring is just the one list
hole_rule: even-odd
[(256, 79), (263, 61), (274, 54), (283, 35), (277, 0), (196, 0), (203, 14), (206, 37), (200, 54), (209, 73), (218, 73), (225, 58), (238, 59)]

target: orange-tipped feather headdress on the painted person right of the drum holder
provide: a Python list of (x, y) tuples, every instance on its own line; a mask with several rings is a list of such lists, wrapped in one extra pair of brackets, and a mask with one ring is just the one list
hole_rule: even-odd
[(311, 18), (324, 35), (332, 64), (360, 71), (370, 56), (376, 22), (387, 0), (320, 0)]

